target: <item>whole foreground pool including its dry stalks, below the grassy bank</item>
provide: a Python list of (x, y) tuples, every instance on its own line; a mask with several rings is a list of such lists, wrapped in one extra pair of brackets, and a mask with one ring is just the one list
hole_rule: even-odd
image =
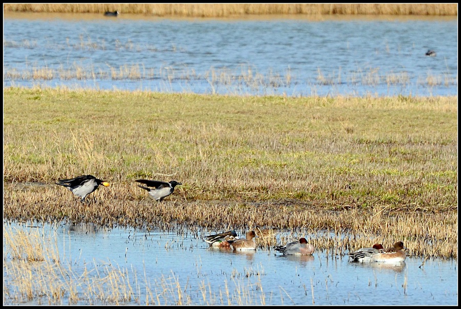
[[(274, 256), (270, 249), (208, 248), (203, 235), (195, 228), (150, 232), (4, 223), (4, 303), (371, 304), (396, 291), (404, 299), (386, 303), (457, 300), (456, 259), (409, 256), (400, 265), (357, 264), (323, 249), (315, 256), (290, 258)], [(305, 236), (311, 242), (317, 235)], [(428, 291), (432, 297), (420, 297)]]

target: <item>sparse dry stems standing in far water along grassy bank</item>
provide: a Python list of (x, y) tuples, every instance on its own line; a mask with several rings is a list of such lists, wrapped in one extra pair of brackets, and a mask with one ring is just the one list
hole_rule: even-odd
[[(19, 46), (16, 42), (6, 42), (9, 46)], [(24, 43), (22, 43), (24, 46)], [(141, 80), (161, 80), (165, 84), (171, 84), (172, 81), (198, 81), (205, 82), (211, 86), (212, 93), (216, 89), (232, 89), (233, 86), (244, 87), (250, 91), (257, 91), (261, 87), (277, 90), (280, 87), (290, 87), (292, 83), (292, 73), (290, 68), (284, 72), (269, 72), (267, 75), (261, 74), (253, 65), (242, 64), (238, 69), (213, 68), (210, 67), (203, 73), (197, 73), (195, 69), (183, 67), (181, 69), (173, 67), (145, 68), (143, 63), (123, 64), (118, 67), (111, 67), (106, 64), (103, 67), (85, 67), (72, 64), (68, 68), (60, 66), (59, 68), (35, 67), (30, 66), (24, 70), (7, 69), (4, 72), (4, 78), (15, 81), (72, 81), (72, 80), (113, 80), (113, 81), (141, 81)], [(377, 86), (386, 85), (388, 89), (393, 86), (410, 85), (412, 81), (408, 72), (381, 72), (380, 68), (358, 68), (349, 73), (341, 73), (340, 68), (337, 73), (325, 75), (321, 68), (317, 69), (317, 75), (311, 80), (306, 81), (310, 85), (341, 85), (347, 84), (351, 87), (357, 85)], [(424, 87), (433, 86), (454, 86), (458, 84), (457, 77), (446, 74), (432, 74), (426, 72), (425, 76), (418, 77), (417, 85)], [(238, 88), (237, 88), (238, 89)]]

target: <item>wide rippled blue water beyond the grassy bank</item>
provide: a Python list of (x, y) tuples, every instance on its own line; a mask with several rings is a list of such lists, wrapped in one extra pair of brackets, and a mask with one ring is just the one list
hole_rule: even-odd
[(457, 60), (456, 17), (4, 18), (4, 86), (445, 96), (457, 95)]

